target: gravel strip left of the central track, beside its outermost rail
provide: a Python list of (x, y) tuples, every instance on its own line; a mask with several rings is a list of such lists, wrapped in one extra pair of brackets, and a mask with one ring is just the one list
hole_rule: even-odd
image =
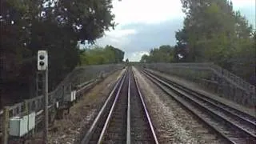
[(78, 142), (81, 134), (85, 133), (86, 127), (90, 127), (94, 121), (111, 88), (124, 71), (118, 70), (114, 74), (110, 74), (84, 94), (78, 103), (70, 108), (70, 114), (67, 114), (62, 120), (55, 121), (54, 128), (49, 132), (49, 143), (71, 144)]

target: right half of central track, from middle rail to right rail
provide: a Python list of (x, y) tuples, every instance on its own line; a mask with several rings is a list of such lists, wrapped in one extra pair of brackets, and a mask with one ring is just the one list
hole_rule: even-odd
[(130, 142), (127, 143), (158, 143), (150, 115), (134, 74), (130, 77)]

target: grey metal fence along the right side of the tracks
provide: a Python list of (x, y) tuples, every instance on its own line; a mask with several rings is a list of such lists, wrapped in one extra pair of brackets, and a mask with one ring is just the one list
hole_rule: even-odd
[(245, 106), (255, 106), (255, 86), (214, 63), (142, 63), (140, 65), (188, 78), (211, 88), (222, 97)]

